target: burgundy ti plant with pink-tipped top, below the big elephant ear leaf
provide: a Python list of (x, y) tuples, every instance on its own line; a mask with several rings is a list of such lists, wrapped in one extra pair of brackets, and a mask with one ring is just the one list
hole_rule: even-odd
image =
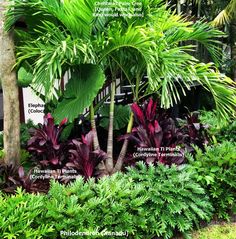
[(32, 132), (32, 137), (28, 141), (28, 150), (43, 167), (62, 165), (64, 145), (59, 142), (59, 137), (66, 122), (65, 118), (60, 125), (55, 125), (52, 115), (48, 113), (44, 116), (44, 124), (39, 124), (39, 128)]

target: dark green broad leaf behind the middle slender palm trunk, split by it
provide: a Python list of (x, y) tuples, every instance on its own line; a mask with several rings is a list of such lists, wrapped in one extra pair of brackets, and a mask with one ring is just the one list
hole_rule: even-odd
[[(130, 117), (130, 106), (128, 105), (115, 105), (114, 108), (114, 130), (120, 130), (127, 126)], [(102, 116), (100, 121), (100, 126), (108, 129), (109, 125), (109, 105), (104, 105), (99, 110), (99, 113)]]

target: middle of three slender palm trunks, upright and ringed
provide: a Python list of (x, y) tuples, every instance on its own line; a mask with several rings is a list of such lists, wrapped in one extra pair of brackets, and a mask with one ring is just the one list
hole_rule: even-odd
[(115, 106), (115, 80), (111, 83), (111, 102), (110, 102), (110, 114), (109, 114), (109, 128), (107, 139), (107, 160), (106, 168), (109, 173), (113, 170), (113, 121), (114, 121), (114, 106)]

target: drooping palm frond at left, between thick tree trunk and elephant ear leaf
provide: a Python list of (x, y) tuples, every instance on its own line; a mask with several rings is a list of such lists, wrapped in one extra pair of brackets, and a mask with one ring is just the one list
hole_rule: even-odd
[(17, 47), (17, 64), (26, 60), (34, 62), (33, 83), (37, 91), (48, 92), (46, 99), (50, 100), (50, 92), (70, 66), (94, 63), (96, 60), (89, 41), (73, 40), (65, 29), (51, 22), (42, 24), (37, 30), (41, 37)]

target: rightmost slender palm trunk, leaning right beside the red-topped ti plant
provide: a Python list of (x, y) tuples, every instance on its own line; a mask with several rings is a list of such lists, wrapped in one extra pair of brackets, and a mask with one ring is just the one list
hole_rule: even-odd
[[(129, 124), (128, 124), (128, 127), (127, 127), (127, 133), (131, 132), (132, 127), (133, 127), (133, 122), (134, 122), (134, 115), (133, 115), (133, 113), (131, 113), (130, 119), (129, 119)], [(116, 165), (115, 165), (112, 173), (115, 173), (115, 172), (120, 171), (122, 169), (124, 159), (125, 159), (125, 155), (126, 155), (127, 148), (128, 148), (128, 143), (129, 143), (128, 139), (125, 139), (124, 143), (122, 145), (118, 160), (116, 162)]]

